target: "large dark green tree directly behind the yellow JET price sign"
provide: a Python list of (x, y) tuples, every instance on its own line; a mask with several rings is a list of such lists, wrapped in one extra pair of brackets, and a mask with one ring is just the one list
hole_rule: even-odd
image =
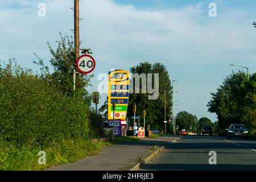
[[(156, 100), (148, 100), (148, 93), (133, 93), (129, 95), (129, 105), (127, 116), (133, 116), (133, 105), (137, 104), (137, 115), (143, 118), (143, 110), (146, 110), (146, 126), (163, 127), (164, 121), (164, 90), (166, 90), (166, 118), (171, 118), (172, 105), (172, 87), (171, 80), (166, 67), (161, 63), (150, 64), (148, 62), (140, 63), (130, 68), (130, 73), (159, 73), (159, 97)], [(152, 81), (154, 86), (154, 77)], [(168, 130), (168, 129), (167, 129)]]

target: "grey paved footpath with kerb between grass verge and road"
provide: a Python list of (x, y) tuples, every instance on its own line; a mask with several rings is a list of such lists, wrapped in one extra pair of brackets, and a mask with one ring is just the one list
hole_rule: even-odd
[(46, 169), (47, 171), (127, 171), (138, 170), (140, 163), (147, 163), (179, 137), (164, 136), (144, 138), (137, 142), (118, 142), (104, 146), (101, 154), (88, 156), (75, 163), (63, 164)]

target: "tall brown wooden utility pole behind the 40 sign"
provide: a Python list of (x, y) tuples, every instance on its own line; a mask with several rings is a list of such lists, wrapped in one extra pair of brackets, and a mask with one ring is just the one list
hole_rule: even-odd
[[(76, 60), (79, 58), (79, 0), (74, 0), (74, 43), (75, 43), (75, 51), (76, 51)], [(75, 61), (76, 61), (75, 60)], [(75, 68), (73, 68), (73, 89), (74, 89), (74, 96), (76, 91), (76, 72)]]

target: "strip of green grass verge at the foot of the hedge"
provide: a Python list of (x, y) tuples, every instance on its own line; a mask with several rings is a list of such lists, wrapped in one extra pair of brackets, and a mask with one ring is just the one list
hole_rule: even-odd
[[(40, 148), (24, 146), (16, 148), (10, 143), (0, 142), (0, 171), (18, 170), (43, 170), (57, 164), (75, 162), (86, 156), (99, 154), (102, 146), (110, 145), (109, 142), (93, 143), (88, 140), (64, 140), (59, 144), (52, 143), (51, 146)], [(46, 152), (46, 164), (38, 164), (39, 151)]]

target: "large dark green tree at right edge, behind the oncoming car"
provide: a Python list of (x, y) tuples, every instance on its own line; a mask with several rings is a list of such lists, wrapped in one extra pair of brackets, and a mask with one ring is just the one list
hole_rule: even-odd
[(211, 93), (208, 110), (218, 115), (220, 133), (231, 123), (243, 123), (251, 132), (256, 129), (256, 73), (247, 81), (245, 72), (226, 76), (216, 93)]

